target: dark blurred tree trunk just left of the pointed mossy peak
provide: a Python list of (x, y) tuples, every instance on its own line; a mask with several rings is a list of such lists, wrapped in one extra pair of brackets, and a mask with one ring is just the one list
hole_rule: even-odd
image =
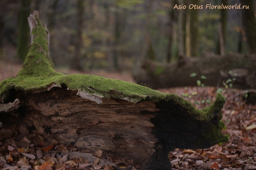
[(27, 17), (30, 14), (30, 0), (21, 0), (18, 21), (17, 58), (25, 60), (29, 51), (29, 26)]

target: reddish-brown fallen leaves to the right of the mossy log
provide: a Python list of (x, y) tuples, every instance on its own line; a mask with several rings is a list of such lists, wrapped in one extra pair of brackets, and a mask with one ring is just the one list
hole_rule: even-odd
[[(202, 109), (210, 104), (204, 102), (197, 105), (195, 102), (201, 103), (201, 100), (206, 99), (213, 102), (217, 88), (179, 87), (158, 90), (178, 94), (189, 100), (196, 108)], [(226, 89), (223, 93), (226, 103), (222, 109), (222, 121), (225, 123), (222, 132), (229, 137), (229, 141), (206, 149), (177, 148), (169, 152), (173, 170), (256, 170), (256, 101), (246, 99), (243, 94), (236, 96), (239, 91), (241, 90)], [(192, 94), (191, 97), (189, 94)], [(184, 153), (189, 156), (185, 156)]]

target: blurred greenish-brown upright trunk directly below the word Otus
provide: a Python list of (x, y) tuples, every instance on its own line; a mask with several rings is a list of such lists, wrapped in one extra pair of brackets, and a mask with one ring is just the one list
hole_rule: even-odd
[[(191, 0), (192, 4), (199, 5), (199, 0)], [(198, 12), (199, 9), (190, 9), (190, 50), (192, 57), (198, 57)]]

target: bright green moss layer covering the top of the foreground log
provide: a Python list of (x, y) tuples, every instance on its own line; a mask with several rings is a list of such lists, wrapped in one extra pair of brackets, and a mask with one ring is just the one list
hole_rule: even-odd
[[(189, 101), (176, 94), (164, 94), (145, 86), (136, 85), (116, 79), (107, 79), (92, 75), (71, 74), (64, 75), (54, 71), (54, 64), (49, 57), (47, 47), (47, 32), (41, 26), (39, 20), (37, 28), (32, 30), (34, 40), (30, 45), (29, 53), (24, 61), (17, 77), (10, 77), (0, 82), (0, 97), (8, 96), (10, 89), (24, 92), (44, 91), (53, 83), (55, 85), (65, 84), (69, 89), (86, 91), (89, 94), (99, 94), (105, 98), (128, 99), (131, 102), (138, 101), (173, 101), (199, 121), (217, 121), (222, 118), (221, 108), (225, 99), (221, 94), (216, 96), (215, 102), (202, 110), (196, 109)], [(162, 68), (159, 68), (163, 71)], [(205, 134), (207, 139), (225, 141), (221, 133), (223, 122), (213, 125), (210, 132)]]

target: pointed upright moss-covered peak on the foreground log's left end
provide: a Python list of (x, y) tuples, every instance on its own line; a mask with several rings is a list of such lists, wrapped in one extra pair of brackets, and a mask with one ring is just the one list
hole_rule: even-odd
[(31, 36), (33, 37), (32, 44), (29, 47), (29, 53), (17, 76), (19, 78), (44, 78), (58, 75), (60, 73), (54, 71), (54, 63), (49, 57), (47, 29), (41, 25), (38, 16), (34, 20), (35, 28), (32, 28), (31, 31)]

